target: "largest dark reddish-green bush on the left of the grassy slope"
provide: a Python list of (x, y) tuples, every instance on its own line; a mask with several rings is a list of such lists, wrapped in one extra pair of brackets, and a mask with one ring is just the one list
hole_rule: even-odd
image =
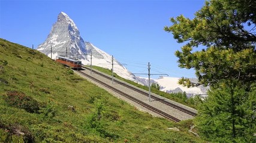
[(13, 107), (22, 108), (29, 113), (38, 113), (39, 103), (32, 97), (28, 97), (17, 91), (9, 91), (4, 97), (5, 102)]

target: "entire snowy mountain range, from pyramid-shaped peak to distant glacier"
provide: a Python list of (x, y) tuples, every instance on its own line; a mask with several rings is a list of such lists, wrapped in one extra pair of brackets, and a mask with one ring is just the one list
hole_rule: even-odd
[[(80, 32), (74, 21), (63, 12), (58, 15), (58, 19), (56, 23), (53, 24), (52, 30), (46, 41), (39, 45), (37, 50), (43, 52), (52, 59), (55, 59), (56, 55), (67, 55), (68, 57), (79, 58), (84, 65), (91, 64), (92, 59), (93, 66), (112, 69), (112, 56), (97, 48), (92, 43), (85, 42), (83, 38), (81, 38)], [(119, 76), (140, 83), (141, 85), (148, 85), (149, 80), (147, 78), (135, 77), (115, 58), (113, 59), (113, 64), (114, 72)], [(185, 91), (188, 95), (206, 93), (207, 89), (203, 86), (186, 88), (179, 85), (177, 83), (178, 80), (179, 78), (176, 77), (161, 77), (159, 79), (150, 79), (150, 83), (159, 83), (161, 91), (164, 92), (176, 93)]]

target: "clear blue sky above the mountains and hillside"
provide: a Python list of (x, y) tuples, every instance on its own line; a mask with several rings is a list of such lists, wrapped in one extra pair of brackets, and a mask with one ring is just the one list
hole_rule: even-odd
[[(201, 0), (166, 1), (5, 1), (0, 0), (0, 37), (34, 48), (49, 35), (63, 11), (74, 21), (80, 36), (127, 64), (132, 73), (166, 73), (195, 77), (194, 70), (180, 69), (174, 52), (183, 45), (163, 30), (170, 17), (193, 18)], [(157, 78), (157, 77), (156, 77)]]

